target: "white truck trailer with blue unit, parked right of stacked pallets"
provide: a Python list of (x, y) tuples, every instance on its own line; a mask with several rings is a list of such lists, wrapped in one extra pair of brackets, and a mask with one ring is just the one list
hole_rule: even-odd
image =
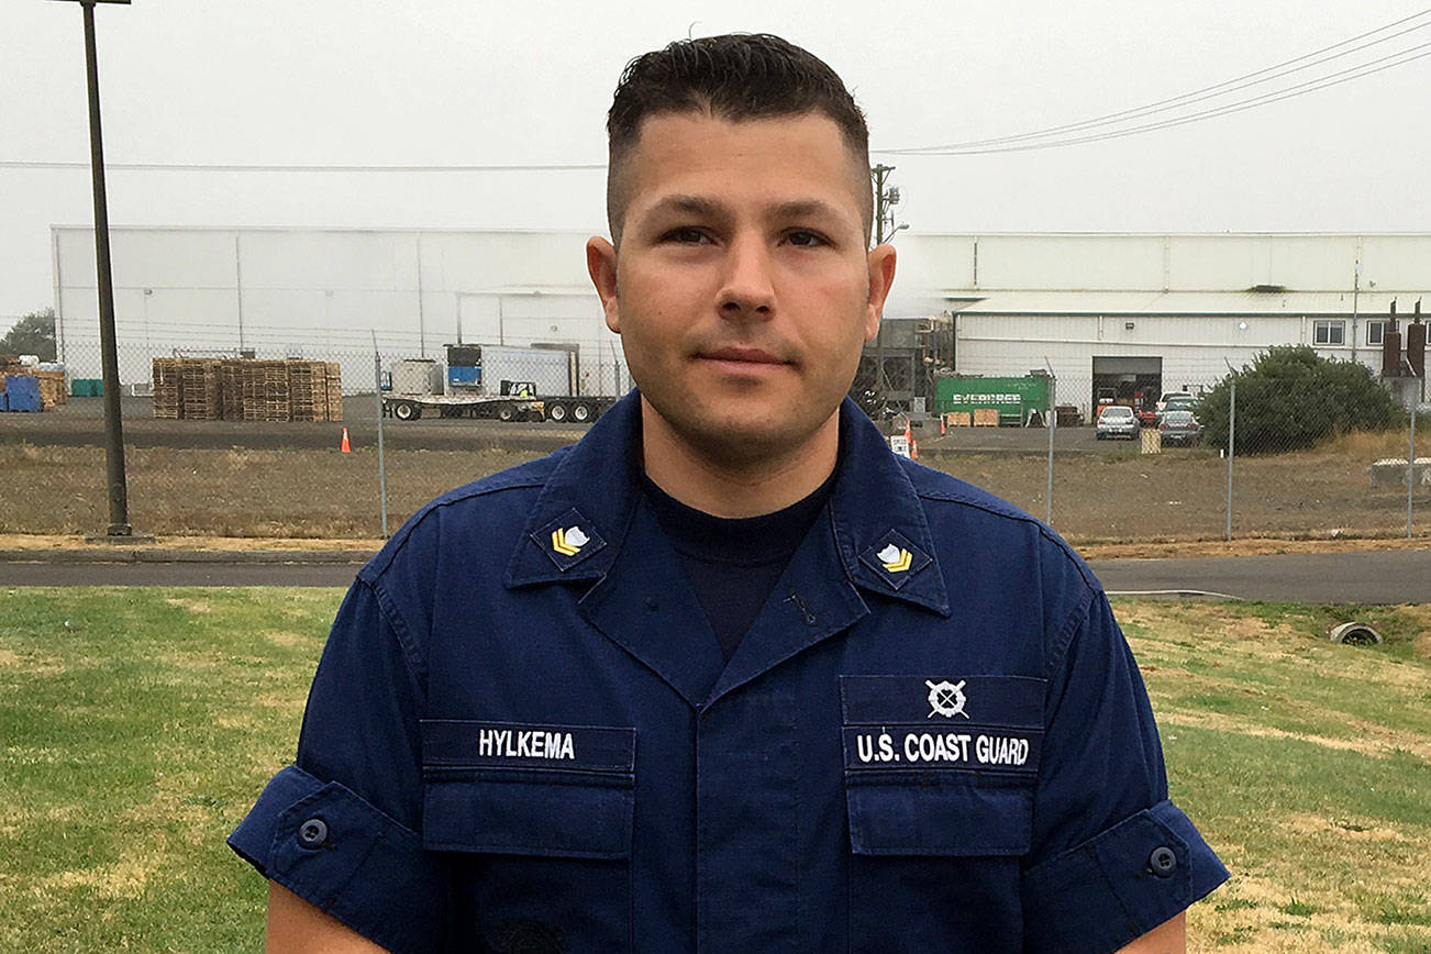
[(398, 421), (438, 413), (588, 423), (617, 400), (581, 393), (575, 346), (448, 345), (445, 350), (445, 362), (408, 358), (392, 363), (384, 413)]

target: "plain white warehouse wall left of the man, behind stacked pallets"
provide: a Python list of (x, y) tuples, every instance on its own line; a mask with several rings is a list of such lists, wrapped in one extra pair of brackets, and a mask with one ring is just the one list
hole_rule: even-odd
[[(72, 378), (97, 378), (93, 230), (54, 227), (56, 313)], [(356, 229), (112, 229), (120, 380), (146, 382), (149, 359), (175, 352), (343, 363), (348, 389), (368, 389), (373, 339), (385, 355), (439, 356), (458, 340), (464, 299), (532, 297), (538, 333), (507, 343), (578, 342), (592, 365), (610, 336), (595, 295), (505, 295), (512, 286), (590, 287), (578, 233)], [(491, 305), (488, 305), (491, 308)], [(468, 342), (482, 343), (471, 333)], [(497, 336), (488, 339), (499, 343)], [(362, 353), (366, 352), (366, 358)], [(587, 355), (584, 353), (584, 358)]]

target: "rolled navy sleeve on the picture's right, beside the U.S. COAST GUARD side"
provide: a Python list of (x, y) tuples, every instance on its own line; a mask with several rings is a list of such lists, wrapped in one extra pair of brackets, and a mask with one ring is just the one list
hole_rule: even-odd
[(1022, 878), (1025, 950), (1116, 951), (1228, 871), (1168, 800), (1148, 692), (1102, 591), (1056, 655)]

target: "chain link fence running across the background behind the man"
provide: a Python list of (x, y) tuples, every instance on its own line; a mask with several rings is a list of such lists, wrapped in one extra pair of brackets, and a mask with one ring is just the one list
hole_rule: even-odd
[[(610, 335), (422, 355), (381, 333), (288, 332), (242, 352), (202, 335), (120, 348), (137, 532), (379, 539), (438, 493), (580, 439), (631, 386)], [(0, 532), (107, 523), (99, 352), (70, 343), (63, 359), (63, 405), (0, 415)], [(1431, 421), (1407, 410), (1427, 398), (1420, 379), (1255, 365), (1209, 362), (1188, 380), (944, 376), (871, 412), (909, 429), (920, 462), (1075, 544), (1425, 533), (1431, 455), (1415, 442)], [(177, 385), (159, 366), (179, 368)]]

